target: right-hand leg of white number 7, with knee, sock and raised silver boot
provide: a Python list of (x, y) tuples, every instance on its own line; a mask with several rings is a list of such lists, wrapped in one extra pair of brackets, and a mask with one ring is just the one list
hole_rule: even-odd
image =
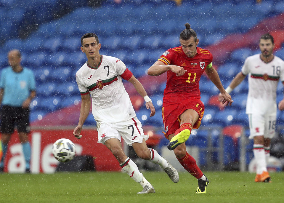
[(137, 156), (154, 164), (158, 164), (174, 183), (179, 182), (179, 174), (177, 170), (166, 160), (165, 157), (158, 154), (155, 149), (149, 149), (146, 145), (145, 139), (143, 139), (142, 143), (133, 143), (132, 147)]

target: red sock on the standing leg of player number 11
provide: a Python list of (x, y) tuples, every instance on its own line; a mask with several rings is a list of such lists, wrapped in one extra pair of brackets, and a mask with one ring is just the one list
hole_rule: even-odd
[(195, 159), (192, 156), (190, 156), (190, 154), (188, 154), (187, 152), (183, 158), (177, 160), (179, 160), (179, 163), (182, 164), (184, 169), (190, 172), (190, 174), (193, 175), (195, 178), (199, 179), (203, 176), (202, 171), (196, 165)]

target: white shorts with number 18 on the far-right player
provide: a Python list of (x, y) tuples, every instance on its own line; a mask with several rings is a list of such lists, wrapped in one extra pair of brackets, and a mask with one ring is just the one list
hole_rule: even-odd
[(248, 114), (250, 136), (264, 135), (264, 138), (273, 138), (275, 135), (276, 115), (263, 116), (258, 114)]

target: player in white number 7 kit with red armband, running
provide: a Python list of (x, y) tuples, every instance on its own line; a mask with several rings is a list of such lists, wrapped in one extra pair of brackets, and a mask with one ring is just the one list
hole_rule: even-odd
[(137, 165), (123, 152), (121, 137), (132, 145), (137, 156), (158, 164), (174, 183), (179, 181), (177, 170), (154, 149), (146, 146), (142, 124), (137, 119), (129, 95), (122, 79), (133, 84), (137, 92), (144, 97), (150, 116), (155, 114), (155, 108), (142, 84), (126, 68), (118, 58), (100, 55), (101, 44), (94, 33), (86, 33), (81, 37), (81, 50), (87, 56), (87, 62), (77, 71), (76, 81), (81, 93), (81, 111), (77, 127), (73, 135), (81, 138), (82, 126), (89, 115), (92, 97), (92, 113), (97, 121), (98, 143), (103, 143), (113, 153), (121, 168), (143, 190), (138, 194), (154, 193), (153, 186), (139, 172)]

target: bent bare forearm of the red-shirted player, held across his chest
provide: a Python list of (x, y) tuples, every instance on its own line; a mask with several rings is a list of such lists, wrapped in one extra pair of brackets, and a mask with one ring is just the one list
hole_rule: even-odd
[(158, 76), (167, 71), (171, 70), (176, 73), (177, 76), (182, 76), (187, 70), (184, 70), (183, 67), (177, 65), (165, 65), (161, 61), (156, 61), (149, 69), (147, 74), (150, 76)]

